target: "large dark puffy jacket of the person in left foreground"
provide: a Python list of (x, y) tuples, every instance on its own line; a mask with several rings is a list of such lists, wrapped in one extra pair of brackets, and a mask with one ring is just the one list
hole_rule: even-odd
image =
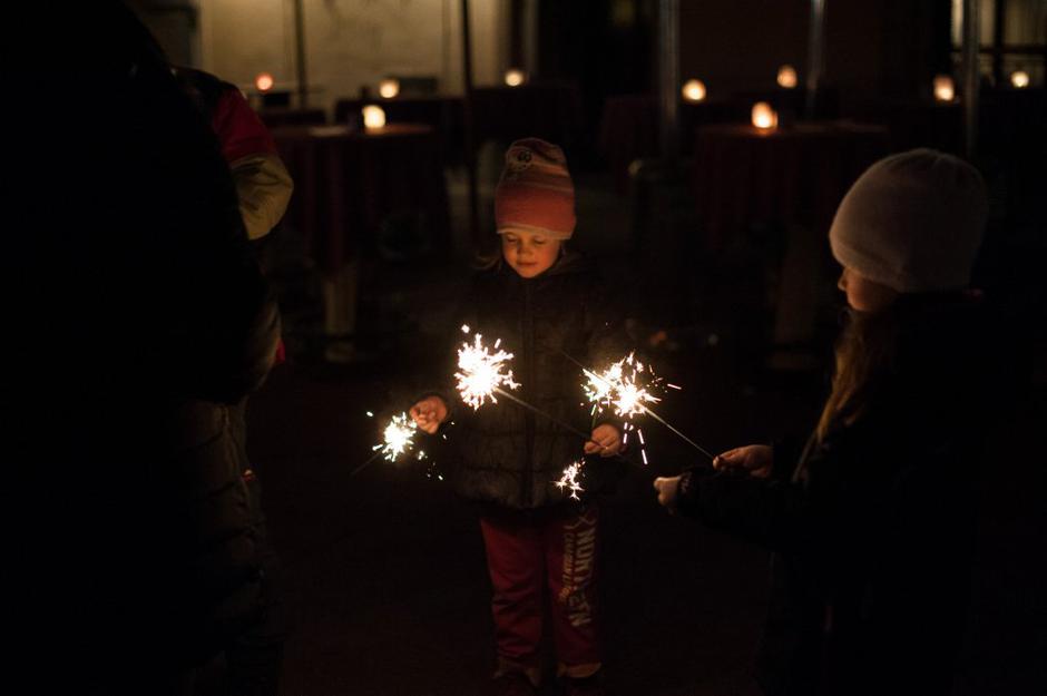
[(209, 125), (126, 8), (69, 12), (27, 10), (3, 60), (36, 105), (8, 151), (9, 657), (41, 693), (158, 693), (260, 618), (228, 409), (280, 322)]

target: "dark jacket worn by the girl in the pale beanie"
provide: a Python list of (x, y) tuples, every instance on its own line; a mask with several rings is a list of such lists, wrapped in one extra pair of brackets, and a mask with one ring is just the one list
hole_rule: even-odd
[(693, 470), (681, 510), (774, 551), (767, 694), (948, 694), (962, 635), (990, 352), (963, 296), (902, 297), (858, 421), (780, 444), (769, 479)]

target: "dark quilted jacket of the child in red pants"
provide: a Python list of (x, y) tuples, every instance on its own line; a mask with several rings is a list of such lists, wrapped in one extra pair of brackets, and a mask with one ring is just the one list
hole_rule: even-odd
[[(499, 263), (477, 276), (463, 306), (462, 323), (487, 345), (501, 339), (500, 347), (513, 354), (513, 378), (521, 386), (511, 393), (580, 432), (591, 431), (589, 409), (581, 405), (581, 369), (574, 361), (599, 369), (627, 349), (616, 307), (588, 262), (568, 253), (530, 280)], [(453, 341), (460, 345), (467, 339), (458, 333)], [(461, 496), (520, 510), (565, 500), (555, 481), (581, 458), (581, 438), (503, 396), (477, 411), (452, 396), (448, 403), (457, 405), (448, 437), (457, 449)], [(607, 488), (620, 464), (597, 459), (587, 467), (586, 487), (594, 491)]]

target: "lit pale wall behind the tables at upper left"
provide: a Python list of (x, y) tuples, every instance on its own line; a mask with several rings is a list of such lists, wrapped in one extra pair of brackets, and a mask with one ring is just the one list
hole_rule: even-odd
[[(242, 86), (272, 72), (296, 85), (293, 0), (199, 0), (202, 67)], [(311, 106), (332, 108), (388, 73), (430, 75), (459, 94), (460, 0), (303, 0)], [(472, 0), (473, 80), (500, 79), (508, 61), (508, 2)]]

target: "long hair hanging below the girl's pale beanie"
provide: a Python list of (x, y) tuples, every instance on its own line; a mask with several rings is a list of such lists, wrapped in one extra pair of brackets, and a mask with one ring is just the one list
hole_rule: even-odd
[(819, 442), (833, 427), (850, 425), (864, 413), (894, 366), (898, 330), (894, 304), (875, 313), (848, 310), (847, 325), (836, 342), (832, 392), (815, 430)]

